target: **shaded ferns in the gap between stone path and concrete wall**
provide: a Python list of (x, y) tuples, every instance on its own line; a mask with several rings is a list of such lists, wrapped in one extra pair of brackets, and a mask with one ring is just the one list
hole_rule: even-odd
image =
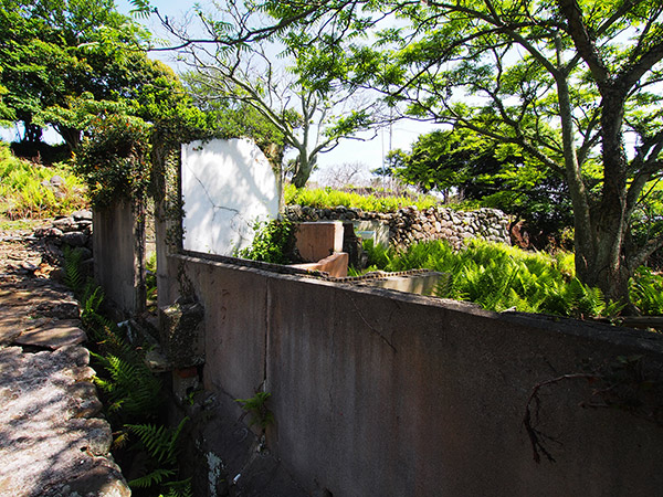
[(187, 422), (165, 425), (161, 381), (145, 362), (145, 349), (131, 345), (126, 327), (103, 311), (104, 296), (92, 279), (84, 281), (80, 252), (65, 252), (65, 283), (81, 303), (82, 321), (95, 350), (91, 352), (105, 415), (113, 429), (113, 454), (129, 475), (133, 494), (145, 497), (190, 497), (189, 478), (178, 468), (178, 438)]

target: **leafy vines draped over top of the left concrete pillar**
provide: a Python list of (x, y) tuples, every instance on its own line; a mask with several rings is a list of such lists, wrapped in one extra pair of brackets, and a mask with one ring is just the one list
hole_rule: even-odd
[(145, 121), (129, 116), (96, 120), (92, 138), (83, 144), (75, 160), (95, 207), (144, 198), (150, 179), (149, 131)]

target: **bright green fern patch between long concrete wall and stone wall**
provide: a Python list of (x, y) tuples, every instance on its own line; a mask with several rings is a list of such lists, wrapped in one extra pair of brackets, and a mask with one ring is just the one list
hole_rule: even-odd
[[(473, 302), (490, 310), (583, 318), (614, 317), (623, 308), (576, 277), (571, 253), (552, 256), (481, 240), (473, 240), (460, 252), (442, 241), (414, 244), (403, 252), (368, 241), (365, 250), (368, 271), (425, 267), (443, 272), (450, 278), (438, 288), (439, 297)], [(631, 282), (631, 299), (643, 314), (661, 314), (662, 290), (663, 277), (646, 268)]]

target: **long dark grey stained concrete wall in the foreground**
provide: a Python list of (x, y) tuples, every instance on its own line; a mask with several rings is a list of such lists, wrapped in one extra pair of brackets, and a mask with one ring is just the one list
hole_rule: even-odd
[[(206, 389), (224, 399), (272, 393), (270, 450), (311, 495), (644, 497), (663, 488), (663, 429), (580, 408), (596, 401), (586, 380), (541, 390), (536, 427), (556, 438), (556, 463), (533, 461), (523, 425), (539, 382), (634, 353), (660, 372), (660, 336), (185, 255), (168, 264), (185, 269), (204, 306)], [(175, 282), (159, 292), (177, 298)]]

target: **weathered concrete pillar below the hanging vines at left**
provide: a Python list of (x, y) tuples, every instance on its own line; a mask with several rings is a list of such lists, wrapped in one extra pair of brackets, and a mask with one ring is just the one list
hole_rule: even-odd
[(94, 275), (126, 314), (145, 309), (145, 224), (128, 202), (93, 211)]

